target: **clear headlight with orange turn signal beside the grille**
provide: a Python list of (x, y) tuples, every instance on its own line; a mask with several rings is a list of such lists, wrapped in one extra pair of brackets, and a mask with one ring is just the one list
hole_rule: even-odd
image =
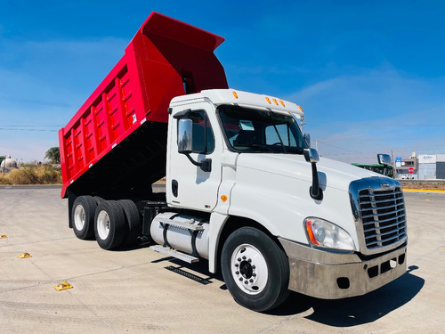
[(355, 250), (354, 241), (343, 228), (320, 218), (304, 219), (308, 240), (318, 247)]

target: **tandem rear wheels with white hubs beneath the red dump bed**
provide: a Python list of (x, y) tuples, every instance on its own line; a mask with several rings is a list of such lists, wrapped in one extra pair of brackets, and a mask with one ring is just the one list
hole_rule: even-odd
[(95, 239), (101, 248), (130, 245), (141, 231), (140, 217), (131, 200), (96, 200), (79, 196), (73, 203), (72, 226), (77, 238)]

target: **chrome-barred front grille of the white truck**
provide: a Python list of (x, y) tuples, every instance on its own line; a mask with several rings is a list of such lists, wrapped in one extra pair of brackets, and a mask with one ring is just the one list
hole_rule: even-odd
[(381, 177), (362, 179), (351, 183), (350, 195), (363, 254), (383, 252), (407, 240), (405, 201), (399, 183)]

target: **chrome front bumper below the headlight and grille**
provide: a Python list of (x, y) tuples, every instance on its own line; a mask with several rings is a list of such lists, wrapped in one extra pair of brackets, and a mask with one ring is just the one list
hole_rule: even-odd
[(289, 259), (289, 289), (307, 296), (338, 299), (364, 295), (407, 271), (406, 245), (370, 260), (330, 253), (279, 239)]

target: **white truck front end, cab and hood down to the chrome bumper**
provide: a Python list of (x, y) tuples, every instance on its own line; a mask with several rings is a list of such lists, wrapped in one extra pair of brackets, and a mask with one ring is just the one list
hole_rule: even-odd
[[(275, 268), (279, 277), (289, 272), (284, 286), (314, 297), (356, 296), (405, 273), (400, 184), (329, 159), (311, 163), (297, 123), (303, 110), (295, 103), (223, 89), (176, 97), (169, 110), (166, 202), (208, 213), (209, 271), (221, 265), (231, 290), (260, 295), (278, 284), (256, 280), (277, 276), (267, 273), (271, 261), (261, 242), (225, 247), (240, 228), (250, 230), (239, 239), (255, 230), (273, 240), (286, 258)], [(313, 186), (320, 187), (318, 197)], [(239, 261), (243, 247), (263, 265)], [(382, 251), (385, 256), (376, 258)], [(319, 274), (325, 278), (321, 286)], [(232, 294), (242, 305), (264, 307)]]

